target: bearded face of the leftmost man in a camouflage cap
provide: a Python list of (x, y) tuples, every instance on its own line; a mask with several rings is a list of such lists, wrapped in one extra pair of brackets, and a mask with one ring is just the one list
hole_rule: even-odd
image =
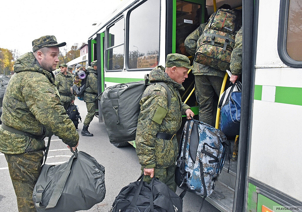
[(41, 63), (40, 65), (46, 71), (54, 71), (56, 70), (56, 65), (59, 62), (59, 47), (52, 46), (48, 47), (45, 52), (41, 55)]

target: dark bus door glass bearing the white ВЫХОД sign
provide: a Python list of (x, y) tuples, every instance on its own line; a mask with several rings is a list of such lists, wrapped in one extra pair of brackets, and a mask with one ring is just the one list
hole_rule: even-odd
[(176, 53), (190, 56), (185, 49), (185, 39), (199, 27), (201, 7), (198, 4), (176, 1)]

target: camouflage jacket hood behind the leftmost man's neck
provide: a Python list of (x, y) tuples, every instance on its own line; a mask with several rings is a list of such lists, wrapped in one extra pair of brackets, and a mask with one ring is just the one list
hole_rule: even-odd
[(14, 72), (35, 71), (44, 74), (51, 83), (54, 83), (53, 72), (45, 71), (34, 57), (33, 52), (27, 52), (20, 56), (14, 64)]

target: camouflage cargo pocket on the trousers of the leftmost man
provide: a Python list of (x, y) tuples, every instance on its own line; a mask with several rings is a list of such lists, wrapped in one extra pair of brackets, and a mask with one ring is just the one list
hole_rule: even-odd
[(12, 179), (30, 185), (35, 184), (41, 172), (41, 162), (29, 160), (26, 157), (33, 157), (33, 159), (41, 160), (43, 159), (42, 151), (41, 154), (37, 152), (24, 153), (22, 156), (14, 157), (11, 161), (11, 167), (13, 169)]

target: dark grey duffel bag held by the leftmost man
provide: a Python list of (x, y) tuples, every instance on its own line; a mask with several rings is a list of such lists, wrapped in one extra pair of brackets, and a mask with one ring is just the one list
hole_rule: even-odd
[(85, 152), (72, 152), (66, 163), (42, 166), (33, 192), (37, 212), (88, 210), (103, 201), (104, 166)]

